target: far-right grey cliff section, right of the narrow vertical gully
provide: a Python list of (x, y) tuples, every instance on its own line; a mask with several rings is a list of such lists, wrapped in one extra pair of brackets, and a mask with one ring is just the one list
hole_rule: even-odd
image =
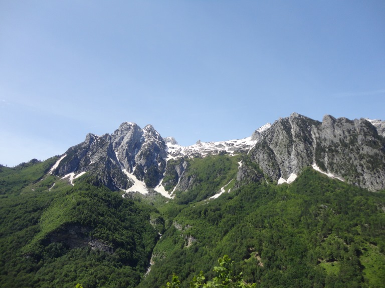
[(366, 119), (325, 116), (315, 160), (321, 169), (369, 190), (385, 187), (385, 141)]

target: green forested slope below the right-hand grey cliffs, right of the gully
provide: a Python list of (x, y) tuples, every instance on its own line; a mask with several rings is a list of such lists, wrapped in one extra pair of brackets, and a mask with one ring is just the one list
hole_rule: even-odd
[(312, 168), (290, 185), (261, 181), (190, 204), (154, 248), (139, 287), (175, 272), (187, 287), (212, 277), (219, 256), (260, 287), (379, 287), (385, 282), (385, 194), (333, 180)]

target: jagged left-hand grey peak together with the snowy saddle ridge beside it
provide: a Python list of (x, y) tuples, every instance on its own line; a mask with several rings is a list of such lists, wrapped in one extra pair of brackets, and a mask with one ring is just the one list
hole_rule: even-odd
[[(270, 124), (258, 131), (266, 130)], [(180, 146), (173, 137), (162, 138), (156, 129), (148, 124), (141, 128), (134, 122), (123, 122), (112, 134), (98, 136), (92, 133), (85, 140), (69, 148), (52, 173), (76, 177), (84, 172), (98, 175), (101, 183), (111, 189), (139, 189), (138, 181), (148, 188), (159, 188), (166, 161), (177, 157), (207, 156), (209, 154), (234, 154), (248, 151), (256, 141), (251, 137), (220, 142), (197, 142)]]

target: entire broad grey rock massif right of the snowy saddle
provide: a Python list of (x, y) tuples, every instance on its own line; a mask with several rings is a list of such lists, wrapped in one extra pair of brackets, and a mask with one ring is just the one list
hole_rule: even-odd
[(385, 188), (385, 140), (366, 119), (325, 115), (322, 122), (293, 113), (280, 118), (261, 134), (251, 159), (273, 180), (288, 178), (316, 163), (349, 183)]

